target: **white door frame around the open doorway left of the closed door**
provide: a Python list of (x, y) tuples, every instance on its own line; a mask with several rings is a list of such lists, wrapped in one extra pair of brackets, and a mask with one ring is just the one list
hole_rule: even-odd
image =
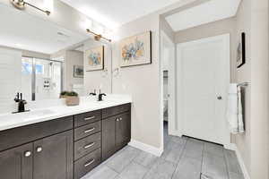
[(177, 135), (176, 130), (176, 44), (169, 38), (169, 36), (161, 30), (161, 146), (163, 147), (163, 58), (164, 48), (169, 47), (169, 135)]

